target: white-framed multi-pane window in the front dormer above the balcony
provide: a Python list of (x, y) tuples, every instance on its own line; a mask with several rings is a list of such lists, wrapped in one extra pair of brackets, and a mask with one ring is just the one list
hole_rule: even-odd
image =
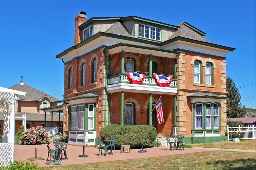
[(139, 24), (139, 37), (149, 38), (153, 40), (159, 40), (160, 41), (160, 35), (161, 35), (161, 29), (154, 27), (154, 26), (148, 26), (144, 24)]

